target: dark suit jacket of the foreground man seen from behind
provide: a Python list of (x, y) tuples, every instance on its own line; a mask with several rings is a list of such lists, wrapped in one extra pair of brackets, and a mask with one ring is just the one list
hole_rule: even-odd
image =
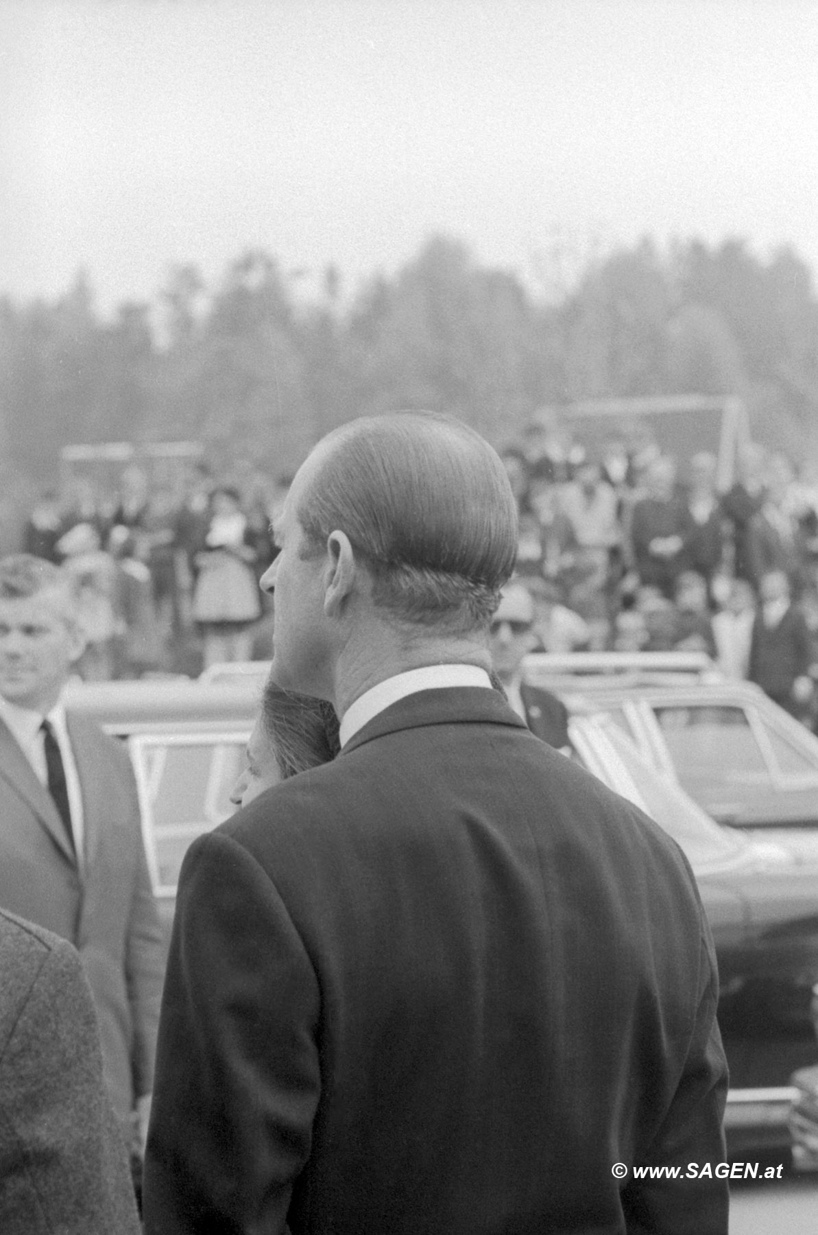
[(727, 1231), (679, 847), (500, 694), (427, 690), (189, 850), (149, 1235)]

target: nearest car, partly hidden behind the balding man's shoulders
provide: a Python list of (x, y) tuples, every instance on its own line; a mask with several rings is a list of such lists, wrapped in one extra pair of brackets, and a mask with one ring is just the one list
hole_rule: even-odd
[[(88, 683), (69, 706), (128, 745), (148, 866), (169, 936), (179, 868), (191, 840), (232, 813), (265, 667), (216, 680)], [(818, 982), (818, 863), (719, 827), (640, 756), (623, 726), (575, 699), (574, 757), (672, 835), (696, 873), (722, 979), (719, 1020), (730, 1063), (725, 1126), (733, 1153), (788, 1152), (790, 1073), (818, 1063), (809, 1016)]]

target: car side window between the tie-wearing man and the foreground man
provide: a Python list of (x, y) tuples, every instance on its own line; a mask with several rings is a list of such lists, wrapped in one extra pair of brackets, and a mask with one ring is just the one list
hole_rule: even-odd
[(175, 895), (188, 847), (236, 809), (247, 734), (139, 735), (128, 740), (153, 890)]

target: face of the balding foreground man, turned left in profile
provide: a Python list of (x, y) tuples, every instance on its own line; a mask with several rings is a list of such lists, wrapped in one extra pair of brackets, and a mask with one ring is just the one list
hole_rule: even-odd
[(262, 588), (273, 595), (271, 679), (285, 690), (323, 695), (322, 577), (327, 559), (324, 553), (305, 553), (306, 538), (296, 514), (301, 495), (308, 490), (312, 459), (310, 456), (299, 469), (273, 525), (280, 552), (262, 576)]

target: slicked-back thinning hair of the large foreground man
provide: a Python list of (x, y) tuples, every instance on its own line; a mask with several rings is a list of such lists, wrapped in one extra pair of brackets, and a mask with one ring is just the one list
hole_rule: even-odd
[(436, 412), (364, 416), (331, 438), (296, 510), (307, 552), (343, 531), (370, 569), (374, 604), (391, 616), (452, 632), (485, 627), (517, 556), (500, 456)]

